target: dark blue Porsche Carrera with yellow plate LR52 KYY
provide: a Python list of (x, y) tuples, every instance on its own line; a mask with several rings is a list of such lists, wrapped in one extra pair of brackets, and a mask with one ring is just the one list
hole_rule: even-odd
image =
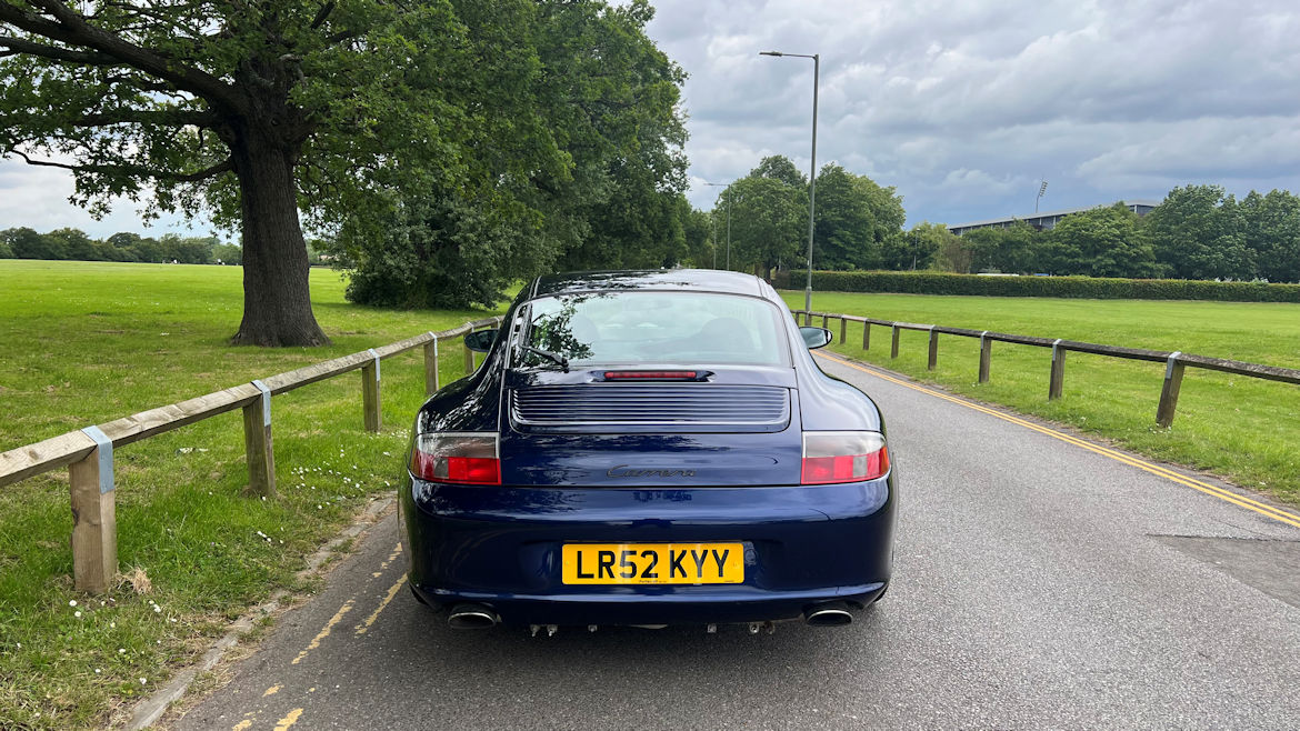
[(893, 563), (885, 428), (763, 280), (545, 276), (416, 416), (411, 588), (458, 628), (846, 624)]

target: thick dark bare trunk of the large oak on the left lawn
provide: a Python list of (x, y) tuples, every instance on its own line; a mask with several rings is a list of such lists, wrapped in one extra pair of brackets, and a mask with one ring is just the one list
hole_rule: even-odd
[(235, 345), (325, 345), (312, 315), (292, 151), (247, 135), (231, 147), (243, 208), (244, 312)]

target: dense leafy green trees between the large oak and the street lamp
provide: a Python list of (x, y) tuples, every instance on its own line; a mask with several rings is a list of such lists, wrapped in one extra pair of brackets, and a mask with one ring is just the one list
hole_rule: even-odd
[(552, 268), (686, 256), (685, 75), (645, 35), (650, 7), (489, 5), (458, 5), (477, 74), (460, 100), (474, 111), (469, 168), (394, 200), (384, 230), (343, 226), (356, 302), (493, 304)]

